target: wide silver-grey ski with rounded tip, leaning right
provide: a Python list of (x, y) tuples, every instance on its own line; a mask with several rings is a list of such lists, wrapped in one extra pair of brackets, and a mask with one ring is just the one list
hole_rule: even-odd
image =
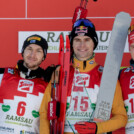
[(116, 15), (94, 113), (94, 121), (96, 122), (110, 118), (130, 22), (131, 17), (128, 13), (120, 12)]

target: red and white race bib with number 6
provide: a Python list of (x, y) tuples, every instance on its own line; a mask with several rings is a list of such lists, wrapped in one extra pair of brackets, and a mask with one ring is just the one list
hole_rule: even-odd
[(6, 68), (0, 86), (0, 133), (39, 134), (39, 109), (47, 83), (24, 79)]

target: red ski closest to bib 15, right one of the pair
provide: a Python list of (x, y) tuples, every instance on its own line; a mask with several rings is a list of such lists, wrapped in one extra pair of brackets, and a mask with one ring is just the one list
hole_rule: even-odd
[[(62, 37), (61, 37), (62, 38)], [(61, 98), (60, 98), (60, 117), (59, 117), (59, 132), (58, 134), (64, 133), (64, 123), (66, 116), (66, 103), (67, 103), (67, 90), (69, 82), (69, 71), (70, 71), (70, 40), (66, 36), (66, 47), (63, 58), (61, 58), (61, 78), (59, 81), (59, 86), (61, 86)], [(61, 83), (61, 84), (60, 84)]]

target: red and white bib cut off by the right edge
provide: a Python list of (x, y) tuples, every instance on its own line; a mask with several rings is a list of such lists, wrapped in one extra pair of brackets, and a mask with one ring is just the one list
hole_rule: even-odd
[(120, 74), (120, 84), (123, 93), (128, 122), (125, 127), (126, 134), (134, 133), (134, 72), (132, 69), (124, 68)]

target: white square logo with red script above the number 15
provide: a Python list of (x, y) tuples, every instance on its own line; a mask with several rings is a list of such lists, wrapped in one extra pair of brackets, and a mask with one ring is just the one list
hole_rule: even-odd
[(89, 86), (90, 76), (88, 74), (76, 74), (75, 75), (75, 86), (83, 87)]

